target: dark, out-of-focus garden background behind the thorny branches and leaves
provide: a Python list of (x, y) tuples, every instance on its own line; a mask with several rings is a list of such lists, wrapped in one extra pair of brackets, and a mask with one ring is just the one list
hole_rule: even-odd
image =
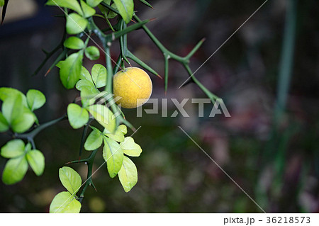
[[(65, 114), (67, 104), (79, 96), (77, 90), (63, 88), (57, 68), (44, 77), (58, 53), (31, 76), (45, 59), (41, 49), (54, 49), (64, 32), (64, 19), (54, 17), (61, 12), (57, 7), (43, 6), (44, 2), (9, 1), (0, 26), (0, 86), (11, 86), (24, 94), (28, 89), (43, 91), (47, 103), (36, 111), (40, 123)], [(186, 55), (201, 38), (206, 38), (191, 58), (190, 66), (195, 71), (263, 2), (150, 0), (154, 9), (135, 1), (135, 10), (142, 19), (157, 18), (147, 24), (148, 28), (178, 55)], [(136, 110), (124, 110), (135, 128), (141, 126), (133, 136), (143, 149), (140, 157), (133, 158), (138, 183), (125, 193), (118, 177), (110, 179), (105, 164), (93, 176), (97, 192), (93, 188), (86, 190), (82, 213), (262, 212), (178, 126), (267, 213), (318, 212), (319, 4), (316, 0), (298, 1), (293, 10), (293, 2), (267, 1), (196, 72), (196, 78), (207, 89), (223, 98), (230, 118), (208, 117), (213, 108), (208, 103), (204, 105), (204, 117), (198, 117), (198, 104), (190, 101), (185, 106), (189, 118), (180, 114), (162, 118), (160, 113), (143, 113), (138, 118)], [(290, 16), (286, 18), (287, 11)], [(95, 20), (105, 26), (102, 18)], [(285, 23), (292, 27), (295, 24), (296, 33), (285, 30)], [(293, 37), (296, 41), (289, 45)], [(143, 30), (128, 35), (128, 47), (164, 75), (162, 53)], [(111, 55), (116, 60), (118, 45), (113, 45)], [(291, 67), (289, 56), (293, 60)], [(85, 59), (84, 65), (90, 71), (93, 64), (104, 62), (101, 54), (94, 62)], [(206, 98), (196, 84), (178, 89), (187, 77), (178, 62), (169, 62), (167, 94), (164, 81), (151, 75), (152, 98), (159, 98), (159, 103), (162, 98)], [(281, 104), (276, 105), (277, 100)], [(168, 103), (170, 116), (176, 107), (172, 101)], [(150, 109), (152, 104), (143, 108)], [(81, 135), (82, 129), (73, 130), (67, 121), (43, 130), (35, 138), (36, 146), (45, 155), (43, 176), (29, 170), (16, 185), (1, 182), (0, 212), (47, 213), (52, 198), (65, 191), (58, 169), (79, 159)], [(10, 138), (1, 134), (0, 145)], [(83, 153), (82, 158), (88, 154)], [(95, 169), (102, 162), (100, 152)], [(1, 157), (1, 172), (5, 163)], [(86, 165), (72, 167), (82, 179), (86, 178)]]

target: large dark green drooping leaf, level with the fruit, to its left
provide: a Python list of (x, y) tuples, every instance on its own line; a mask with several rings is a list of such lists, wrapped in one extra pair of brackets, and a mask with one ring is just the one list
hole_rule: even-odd
[(79, 81), (82, 58), (82, 51), (79, 51), (69, 55), (69, 57), (62, 62), (60, 79), (65, 88), (72, 89), (74, 85), (77, 84), (77, 81)]

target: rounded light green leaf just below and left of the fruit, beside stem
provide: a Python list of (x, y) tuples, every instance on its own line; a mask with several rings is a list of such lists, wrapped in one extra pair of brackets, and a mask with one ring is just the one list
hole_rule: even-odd
[(89, 113), (85, 108), (81, 108), (75, 103), (70, 103), (69, 106), (67, 106), (67, 118), (69, 118), (69, 124), (72, 128), (78, 129), (87, 123)]

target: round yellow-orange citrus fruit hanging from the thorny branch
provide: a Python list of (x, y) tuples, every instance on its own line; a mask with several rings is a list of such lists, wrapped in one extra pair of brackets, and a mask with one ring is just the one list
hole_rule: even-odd
[[(123, 108), (138, 108), (142, 106), (152, 94), (152, 80), (150, 76), (138, 67), (127, 67), (113, 77), (114, 98)], [(143, 98), (143, 99), (141, 99)]]

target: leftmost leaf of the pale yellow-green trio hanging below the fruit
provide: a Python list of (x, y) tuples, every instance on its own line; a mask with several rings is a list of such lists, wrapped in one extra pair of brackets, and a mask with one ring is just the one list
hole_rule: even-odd
[(111, 178), (118, 174), (122, 167), (123, 151), (118, 142), (104, 137), (103, 158), (108, 165), (108, 174)]

